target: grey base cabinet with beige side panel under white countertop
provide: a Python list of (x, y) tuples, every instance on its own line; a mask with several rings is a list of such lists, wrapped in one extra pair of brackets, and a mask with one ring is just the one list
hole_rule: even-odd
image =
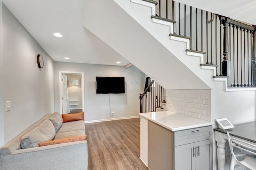
[(212, 126), (173, 132), (146, 119), (140, 123), (140, 158), (150, 170), (212, 170)]

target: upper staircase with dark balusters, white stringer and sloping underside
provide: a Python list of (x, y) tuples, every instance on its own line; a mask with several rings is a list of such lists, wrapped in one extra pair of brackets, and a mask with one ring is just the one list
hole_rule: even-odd
[[(252, 53), (251, 50), (249, 52), (249, 49), (245, 48), (253, 46), (252, 34), (254, 33), (254, 27), (174, 1), (166, 1), (168, 3), (165, 10), (161, 9), (163, 5), (159, 5), (158, 2), (152, 0), (131, 0), (131, 2), (122, 0), (114, 1), (116, 4), (113, 0), (106, 0), (106, 2), (100, 2), (98, 4), (94, 2), (93, 4), (103, 13), (104, 9), (107, 12), (108, 9), (110, 9), (108, 6), (111, 6), (114, 11), (108, 11), (108, 14), (111, 14), (108, 18), (113, 20), (113, 23), (115, 23), (114, 27), (109, 26), (109, 19), (104, 16), (99, 16), (96, 20), (102, 21), (102, 25), (108, 25), (106, 31), (95, 29), (97, 26), (102, 27), (102, 25), (96, 24), (94, 27), (91, 27), (90, 23), (92, 21), (88, 20), (84, 20), (84, 26), (143, 72), (151, 75), (154, 80), (160, 82), (166, 89), (213, 89), (223, 84), (222, 82), (216, 81), (223, 81), (226, 91), (255, 90), (252, 85)], [(90, 6), (90, 3), (92, 2), (86, 1), (85, 11), (90, 12), (90, 8), (87, 7)], [(102, 6), (102, 8), (99, 6)], [(113, 8), (113, 6), (115, 6), (116, 9)], [(159, 8), (159, 6), (161, 6), (161, 8)], [(120, 15), (120, 13), (122, 13), (120, 12), (120, 10), (122, 10), (120, 7), (132, 16), (137, 23), (131, 21), (130, 16), (127, 16), (127, 14), (123, 16)], [(88, 12), (86, 12), (86, 14), (88, 14)], [(181, 17), (182, 14), (183, 17)], [(117, 18), (118, 15), (120, 17)], [(163, 16), (165, 16), (165, 18)], [(132, 26), (129, 27), (128, 24), (123, 24), (122, 20), (126, 23), (130, 23), (129, 25)], [(104, 22), (106, 23), (104, 24)], [(120, 25), (116, 25), (118, 22)], [(140, 25), (138, 25), (138, 23), (140, 23)], [(192, 24), (188, 25), (187, 23)], [(230, 29), (231, 27), (229, 27), (228, 30), (227, 24), (231, 25), (234, 29)], [(128, 27), (124, 27), (123, 25)], [(217, 25), (222, 26), (217, 27)], [(146, 33), (150, 33), (151, 36), (144, 35), (146, 34), (144, 32), (145, 30), (141, 30), (141, 26), (147, 31)], [(123, 29), (122, 34), (118, 35), (117, 27), (118, 29)], [(239, 32), (236, 29), (244, 31)], [(223, 34), (223, 32), (225, 34)], [(227, 34), (227, 32), (229, 32), (229, 34)], [(231, 38), (230, 41), (226, 41), (228, 36), (232, 35), (232, 33), (238, 34), (238, 32), (240, 37), (237, 39)], [(246, 33), (248, 33), (247, 37)], [(118, 38), (124, 37), (127, 47), (133, 47), (133, 49), (124, 49), (117, 45), (118, 39), (111, 37), (113, 34), (116, 34)], [(140, 38), (136, 39), (138, 42), (135, 42), (134, 39), (131, 38), (133, 34), (140, 35)], [(248, 38), (249, 35), (250, 38)], [(152, 39), (152, 36), (154, 39)], [(233, 40), (234, 43), (232, 43), (231, 40)], [(241, 46), (236, 53), (233, 53), (233, 57), (229, 57), (227, 54), (234, 51), (236, 43), (240, 40), (241, 42), (242, 40), (244, 41), (243, 46)], [(213, 42), (215, 42), (215, 44)], [(248, 45), (244, 45), (247, 43)], [(229, 49), (228, 46), (224, 46), (223, 44), (230, 45), (230, 51), (227, 51)], [(163, 46), (165, 48), (163, 48)], [(138, 47), (140, 47), (140, 49), (138, 49)], [(154, 49), (158, 50), (154, 51)], [(168, 51), (166, 51), (166, 49)], [(214, 51), (212, 49), (216, 50)], [(138, 56), (140, 59), (138, 59)], [(158, 60), (158, 57), (161, 59)], [(238, 60), (239, 62), (236, 62)], [(226, 65), (230, 65), (229, 69), (226, 69), (225, 63)], [(159, 76), (151, 68), (147, 68), (146, 66), (148, 65), (159, 67), (162, 75)], [(226, 70), (224, 70), (224, 68)], [(175, 74), (170, 74), (172, 72), (175, 72)], [(170, 81), (166, 80), (166, 77), (170, 77), (175, 83), (170, 84)], [(182, 77), (185, 78), (182, 79)], [(215, 82), (213, 80), (215, 80)]]

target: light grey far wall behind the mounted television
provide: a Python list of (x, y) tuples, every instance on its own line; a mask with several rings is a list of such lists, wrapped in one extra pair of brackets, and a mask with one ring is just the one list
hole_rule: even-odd
[[(55, 111), (59, 112), (59, 71), (84, 72), (85, 121), (136, 116), (140, 112), (139, 94), (144, 91), (145, 74), (135, 66), (54, 62)], [(96, 94), (96, 76), (125, 77), (125, 94)], [(132, 83), (131, 83), (132, 81)]]

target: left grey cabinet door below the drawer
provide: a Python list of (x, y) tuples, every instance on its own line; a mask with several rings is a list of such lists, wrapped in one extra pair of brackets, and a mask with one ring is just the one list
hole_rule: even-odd
[(174, 170), (195, 170), (195, 143), (174, 147)]

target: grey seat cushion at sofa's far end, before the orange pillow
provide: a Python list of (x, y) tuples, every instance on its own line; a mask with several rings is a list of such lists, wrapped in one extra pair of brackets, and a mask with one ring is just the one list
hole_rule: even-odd
[(78, 131), (83, 130), (84, 131), (84, 121), (78, 120), (78, 121), (70, 121), (66, 123), (62, 123), (62, 126), (56, 133), (63, 133), (63, 132), (69, 132), (69, 131)]

